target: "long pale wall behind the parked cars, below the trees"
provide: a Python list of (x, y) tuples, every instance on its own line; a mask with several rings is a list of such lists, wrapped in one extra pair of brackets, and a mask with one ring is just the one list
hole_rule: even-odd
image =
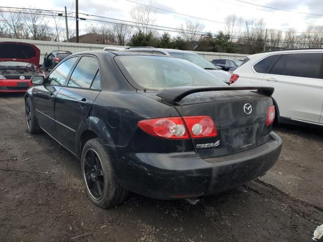
[[(24, 42), (36, 45), (40, 49), (40, 63), (43, 62), (45, 53), (50, 53), (53, 50), (69, 50), (72, 53), (86, 51), (86, 50), (102, 50), (103, 47), (115, 45), (104, 45), (104, 44), (82, 44), (82, 43), (66, 43), (66, 42), (54, 42), (54, 41), (42, 41), (42, 40), (30, 40), (30, 39), (11, 39), (11, 38), (0, 38), (0, 42), (14, 41)], [(127, 47), (127, 46), (115, 46), (115, 47)], [(192, 51), (204, 56), (208, 61), (216, 58), (230, 58), (230, 59), (244, 59), (247, 54), (234, 54), (234, 53), (218, 53), (218, 52), (201, 52)]]

